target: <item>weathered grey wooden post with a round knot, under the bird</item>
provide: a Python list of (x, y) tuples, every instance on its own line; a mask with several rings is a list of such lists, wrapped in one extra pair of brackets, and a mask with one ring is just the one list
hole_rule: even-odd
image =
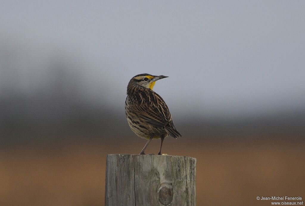
[(106, 206), (196, 206), (196, 158), (107, 155)]

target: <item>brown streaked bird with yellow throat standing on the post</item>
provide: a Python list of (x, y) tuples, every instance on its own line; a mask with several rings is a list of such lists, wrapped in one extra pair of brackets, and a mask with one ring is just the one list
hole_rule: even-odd
[(145, 155), (145, 149), (152, 139), (161, 139), (160, 151), (164, 138), (181, 137), (176, 130), (170, 111), (162, 97), (152, 89), (157, 80), (167, 76), (139, 74), (131, 78), (127, 86), (125, 114), (131, 130), (140, 138), (147, 139), (140, 155)]

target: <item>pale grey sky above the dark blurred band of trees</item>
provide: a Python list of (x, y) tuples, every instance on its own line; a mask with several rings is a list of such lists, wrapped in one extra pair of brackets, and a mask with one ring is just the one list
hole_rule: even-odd
[(25, 92), (60, 59), (118, 110), (140, 73), (170, 77), (154, 90), (172, 114), (304, 109), (305, 1), (2, 1), (0, 28)]

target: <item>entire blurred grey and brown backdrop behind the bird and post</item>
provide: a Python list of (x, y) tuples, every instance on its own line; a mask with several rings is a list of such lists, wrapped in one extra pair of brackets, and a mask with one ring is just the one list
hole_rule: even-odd
[[(0, 205), (104, 205), (106, 154), (145, 140), (124, 113), (154, 90), (197, 158), (197, 205), (305, 198), (304, 1), (2, 1)], [(146, 153), (157, 153), (152, 141)]]

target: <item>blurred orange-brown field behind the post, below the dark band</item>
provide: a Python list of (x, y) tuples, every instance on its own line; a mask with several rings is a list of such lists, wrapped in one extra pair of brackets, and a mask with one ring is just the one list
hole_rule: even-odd
[[(197, 158), (197, 205), (271, 205), (257, 196), (305, 198), (302, 140), (185, 136), (164, 143), (164, 153)], [(144, 144), (126, 137), (2, 148), (0, 205), (104, 205), (106, 155), (137, 154)], [(153, 141), (146, 152), (157, 153), (159, 144)]]

